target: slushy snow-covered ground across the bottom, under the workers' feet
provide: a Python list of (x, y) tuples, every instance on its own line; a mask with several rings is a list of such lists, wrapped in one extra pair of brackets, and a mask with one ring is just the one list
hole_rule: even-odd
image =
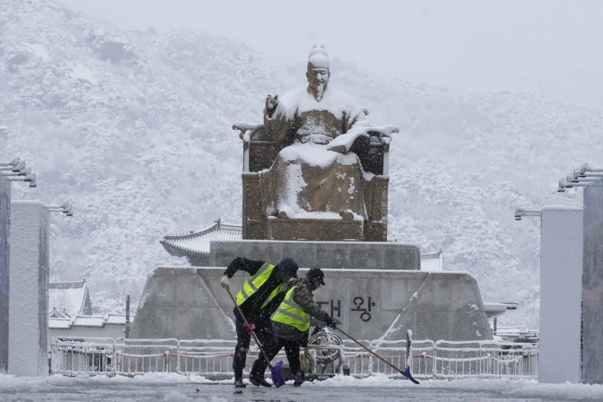
[(179, 374), (128, 377), (14, 377), (0, 375), (2, 401), (601, 401), (603, 385), (539, 384), (534, 380), (429, 380), (414, 385), (374, 375), (339, 376), (294, 388), (235, 389), (232, 380), (214, 382)]

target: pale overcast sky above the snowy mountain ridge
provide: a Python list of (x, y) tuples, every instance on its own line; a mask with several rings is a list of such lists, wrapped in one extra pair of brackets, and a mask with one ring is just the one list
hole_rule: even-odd
[(305, 61), (324, 44), (330, 57), (377, 75), (603, 107), (603, 1), (57, 2), (124, 29), (221, 34), (277, 62)]

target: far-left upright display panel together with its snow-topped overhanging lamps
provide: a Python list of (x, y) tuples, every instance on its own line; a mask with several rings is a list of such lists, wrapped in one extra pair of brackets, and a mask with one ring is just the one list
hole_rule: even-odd
[(8, 371), (8, 313), (10, 306), (10, 192), (13, 181), (36, 187), (36, 174), (19, 157), (0, 160), (0, 373)]

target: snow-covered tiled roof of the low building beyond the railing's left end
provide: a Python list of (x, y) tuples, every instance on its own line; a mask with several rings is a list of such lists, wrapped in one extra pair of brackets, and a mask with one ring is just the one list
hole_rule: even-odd
[[(69, 315), (92, 314), (92, 304), (86, 280), (75, 282), (51, 282), (48, 284), (49, 313), (56, 308)], [(65, 315), (65, 314), (63, 314)]]

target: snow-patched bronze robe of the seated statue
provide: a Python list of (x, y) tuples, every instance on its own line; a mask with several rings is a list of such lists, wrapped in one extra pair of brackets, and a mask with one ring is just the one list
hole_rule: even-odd
[(264, 124), (271, 139), (288, 145), (259, 172), (267, 216), (283, 210), (289, 217), (339, 219), (335, 214), (349, 210), (367, 219), (363, 189), (372, 175), (354, 152), (328, 149), (341, 134), (368, 127), (349, 95), (327, 86), (319, 102), (306, 88), (289, 91), (272, 116), (264, 114)]

